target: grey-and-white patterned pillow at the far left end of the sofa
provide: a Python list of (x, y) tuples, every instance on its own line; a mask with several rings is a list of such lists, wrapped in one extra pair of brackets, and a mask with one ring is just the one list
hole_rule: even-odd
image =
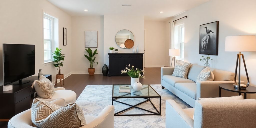
[(188, 79), (187, 75), (190, 65), (191, 63), (181, 65), (180, 63), (176, 62), (172, 76)]

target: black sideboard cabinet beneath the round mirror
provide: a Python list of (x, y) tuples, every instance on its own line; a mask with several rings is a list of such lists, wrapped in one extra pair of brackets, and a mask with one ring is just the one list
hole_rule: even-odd
[(143, 54), (144, 53), (109, 53), (109, 74), (108, 76), (127, 76), (121, 74), (121, 70), (125, 67), (134, 66), (143, 70)]

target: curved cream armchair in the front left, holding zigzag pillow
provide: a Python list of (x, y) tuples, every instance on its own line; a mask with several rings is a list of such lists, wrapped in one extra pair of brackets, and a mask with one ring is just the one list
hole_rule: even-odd
[[(51, 101), (60, 106), (65, 105), (64, 99)], [(114, 127), (114, 106), (106, 106), (97, 117), (84, 115), (86, 125), (80, 128), (113, 128)], [(32, 126), (31, 109), (13, 116), (8, 122), (8, 128), (36, 128)]]

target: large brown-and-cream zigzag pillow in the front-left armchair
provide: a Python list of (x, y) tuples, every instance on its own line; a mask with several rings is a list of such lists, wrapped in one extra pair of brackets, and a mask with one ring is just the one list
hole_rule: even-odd
[(31, 120), (39, 128), (77, 128), (86, 125), (83, 110), (76, 103), (61, 107), (37, 98), (32, 104)]

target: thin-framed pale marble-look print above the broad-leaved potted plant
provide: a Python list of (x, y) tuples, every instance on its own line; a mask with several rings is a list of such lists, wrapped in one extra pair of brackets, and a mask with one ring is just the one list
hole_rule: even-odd
[(85, 47), (86, 48), (98, 47), (98, 31), (85, 31)]

